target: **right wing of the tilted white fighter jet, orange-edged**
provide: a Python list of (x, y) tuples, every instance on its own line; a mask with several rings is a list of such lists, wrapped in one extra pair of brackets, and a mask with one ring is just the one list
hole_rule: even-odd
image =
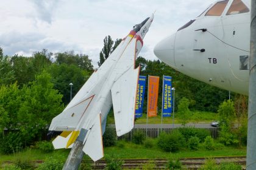
[(140, 67), (135, 66), (136, 38), (133, 38), (118, 61), (117, 72), (123, 72), (111, 89), (116, 134), (130, 132), (134, 126), (135, 99)]

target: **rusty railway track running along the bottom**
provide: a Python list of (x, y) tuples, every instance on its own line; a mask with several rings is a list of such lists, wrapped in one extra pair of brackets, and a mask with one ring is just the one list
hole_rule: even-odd
[[(184, 168), (187, 169), (199, 169), (207, 158), (180, 158)], [(212, 157), (217, 164), (222, 162), (227, 163), (238, 163), (242, 165), (242, 168), (246, 167), (246, 157)], [(142, 169), (143, 165), (154, 164), (155, 169), (165, 169), (168, 159), (124, 159), (122, 169)], [(96, 162), (89, 161), (91, 168), (93, 169), (104, 169), (107, 163), (104, 160)]]

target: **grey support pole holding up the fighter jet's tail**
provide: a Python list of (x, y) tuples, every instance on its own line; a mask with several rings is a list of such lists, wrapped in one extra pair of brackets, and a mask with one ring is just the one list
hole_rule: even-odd
[(69, 152), (66, 163), (62, 170), (77, 170), (84, 156), (83, 142), (76, 140), (73, 144), (71, 151)]

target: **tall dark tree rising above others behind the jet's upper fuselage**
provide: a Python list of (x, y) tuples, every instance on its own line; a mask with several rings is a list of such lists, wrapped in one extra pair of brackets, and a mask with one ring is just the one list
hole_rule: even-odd
[(118, 47), (121, 41), (122, 39), (116, 39), (114, 44), (114, 41), (112, 40), (110, 35), (105, 36), (103, 40), (104, 46), (101, 52), (99, 53), (98, 66), (101, 66), (104, 63), (104, 61), (107, 60), (108, 56), (110, 56), (110, 54), (116, 49), (116, 47)]

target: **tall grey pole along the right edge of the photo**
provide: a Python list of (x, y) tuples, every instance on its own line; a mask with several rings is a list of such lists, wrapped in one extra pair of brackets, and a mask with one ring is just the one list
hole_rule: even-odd
[(251, 0), (251, 48), (249, 58), (249, 110), (246, 169), (256, 169), (256, 1)]

